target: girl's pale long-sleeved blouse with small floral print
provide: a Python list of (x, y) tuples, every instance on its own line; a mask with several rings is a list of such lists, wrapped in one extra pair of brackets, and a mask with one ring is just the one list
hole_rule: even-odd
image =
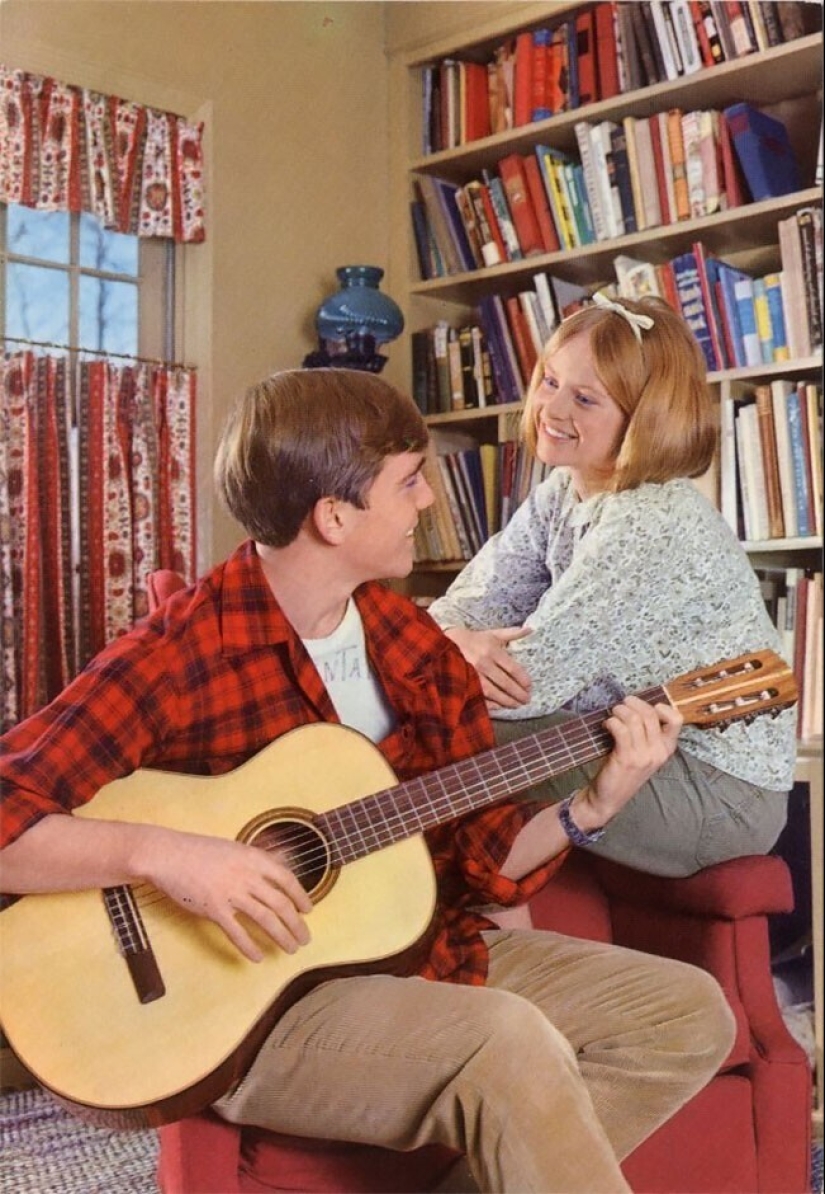
[[(556, 468), (430, 613), (444, 628), (527, 626), (510, 645), (529, 704), (497, 718), (587, 712), (749, 651), (781, 651), (727, 523), (689, 480), (579, 501)], [(682, 747), (758, 787), (793, 784), (795, 710), (724, 732), (685, 726)]]

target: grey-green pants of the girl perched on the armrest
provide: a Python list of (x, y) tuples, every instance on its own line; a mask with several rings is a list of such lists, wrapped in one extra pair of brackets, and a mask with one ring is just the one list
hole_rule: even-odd
[[(494, 721), (495, 740), (515, 741), (567, 720), (550, 714)], [(601, 759), (529, 788), (525, 800), (564, 800), (587, 783)], [(587, 849), (653, 875), (692, 875), (714, 862), (768, 854), (788, 816), (788, 793), (769, 792), (677, 750)]]

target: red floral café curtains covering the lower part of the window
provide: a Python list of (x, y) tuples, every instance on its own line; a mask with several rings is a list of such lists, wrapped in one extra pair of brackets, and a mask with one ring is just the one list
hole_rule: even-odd
[(195, 577), (190, 369), (0, 363), (0, 730), (147, 613), (147, 576)]

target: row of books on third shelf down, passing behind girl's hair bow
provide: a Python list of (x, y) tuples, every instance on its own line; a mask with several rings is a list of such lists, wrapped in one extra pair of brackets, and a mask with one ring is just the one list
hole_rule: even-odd
[(616, 281), (596, 287), (537, 271), (516, 294), (484, 295), (461, 327), (413, 332), (413, 396), (425, 414), (519, 402), (559, 321), (596, 290), (664, 298), (694, 332), (709, 373), (807, 359), (823, 346), (821, 227), (820, 208), (780, 221), (780, 269), (763, 277), (701, 241), (669, 261), (617, 254)]

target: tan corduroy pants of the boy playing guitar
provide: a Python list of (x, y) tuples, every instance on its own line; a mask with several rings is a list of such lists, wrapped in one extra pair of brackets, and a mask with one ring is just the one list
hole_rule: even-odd
[(295, 1135), (447, 1144), (484, 1192), (629, 1190), (618, 1159), (731, 1048), (721, 990), (696, 967), (555, 933), (486, 940), (486, 986), (370, 975), (312, 991), (216, 1110)]

